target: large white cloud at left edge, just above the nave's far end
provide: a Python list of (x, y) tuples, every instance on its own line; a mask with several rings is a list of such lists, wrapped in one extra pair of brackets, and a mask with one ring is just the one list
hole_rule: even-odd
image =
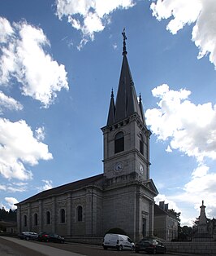
[(45, 143), (33, 136), (23, 120), (11, 122), (0, 118), (0, 174), (6, 179), (32, 179), (25, 164), (37, 165), (39, 160), (50, 160), (52, 154)]

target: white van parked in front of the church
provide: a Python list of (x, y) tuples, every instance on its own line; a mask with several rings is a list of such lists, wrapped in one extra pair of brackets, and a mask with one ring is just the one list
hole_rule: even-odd
[(106, 234), (103, 239), (103, 248), (115, 248), (118, 250), (131, 249), (134, 250), (134, 243), (128, 236), (119, 234)]

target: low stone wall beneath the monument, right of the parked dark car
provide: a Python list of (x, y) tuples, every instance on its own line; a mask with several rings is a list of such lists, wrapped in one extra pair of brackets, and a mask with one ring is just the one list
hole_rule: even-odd
[(216, 255), (216, 241), (164, 242), (168, 252)]

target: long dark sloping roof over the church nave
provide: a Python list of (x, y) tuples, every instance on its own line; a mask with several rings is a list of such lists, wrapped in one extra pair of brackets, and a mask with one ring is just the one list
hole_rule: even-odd
[(98, 185), (102, 186), (102, 179), (103, 179), (103, 174), (98, 174), (96, 176), (87, 178), (87, 179), (80, 179), (78, 181), (72, 182), (72, 183), (67, 183), (65, 185), (56, 187), (56, 188), (51, 188), (45, 191), (42, 191), (34, 196), (29, 197), (28, 199), (25, 199), (24, 201), (21, 201), (15, 205), (19, 204), (24, 204), (30, 201), (37, 201), (41, 200), (50, 196), (57, 196), (59, 194), (64, 194), (67, 192), (71, 192), (76, 189), (84, 188), (86, 186), (93, 186), (93, 185)]

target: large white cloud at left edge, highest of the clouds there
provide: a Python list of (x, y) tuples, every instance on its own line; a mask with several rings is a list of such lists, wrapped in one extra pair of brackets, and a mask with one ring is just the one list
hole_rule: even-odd
[(15, 78), (23, 95), (48, 108), (57, 92), (68, 89), (68, 84), (63, 64), (44, 51), (50, 42), (42, 29), (26, 22), (14, 23), (12, 28), (8, 20), (0, 19), (0, 34), (0, 85), (8, 86), (11, 78)]

